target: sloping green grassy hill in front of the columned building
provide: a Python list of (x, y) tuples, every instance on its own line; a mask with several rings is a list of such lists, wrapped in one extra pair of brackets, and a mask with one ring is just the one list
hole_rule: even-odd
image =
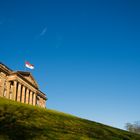
[(140, 135), (0, 98), (0, 140), (140, 140)]

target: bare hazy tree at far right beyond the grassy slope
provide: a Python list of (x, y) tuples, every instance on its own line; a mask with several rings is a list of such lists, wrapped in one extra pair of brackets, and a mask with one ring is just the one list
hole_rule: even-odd
[(140, 134), (140, 121), (136, 121), (133, 124), (126, 123), (125, 128), (130, 132)]

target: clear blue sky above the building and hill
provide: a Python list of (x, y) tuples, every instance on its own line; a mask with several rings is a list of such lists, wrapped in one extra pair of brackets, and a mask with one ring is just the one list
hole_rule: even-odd
[(124, 128), (140, 120), (139, 0), (0, 0), (0, 61), (47, 107)]

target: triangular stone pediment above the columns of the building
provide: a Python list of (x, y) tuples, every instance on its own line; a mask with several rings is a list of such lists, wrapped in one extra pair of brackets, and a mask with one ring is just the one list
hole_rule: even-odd
[(36, 88), (38, 88), (38, 84), (35, 81), (34, 77), (32, 76), (32, 74), (30, 72), (22, 72), (22, 71), (18, 71), (18, 73), (20, 73), (25, 79), (27, 79), (30, 83), (32, 83)]

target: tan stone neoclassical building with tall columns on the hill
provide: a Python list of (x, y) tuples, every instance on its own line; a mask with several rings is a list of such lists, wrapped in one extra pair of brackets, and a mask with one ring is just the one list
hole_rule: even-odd
[(13, 71), (0, 63), (0, 96), (33, 106), (46, 107), (46, 95), (30, 72)]

